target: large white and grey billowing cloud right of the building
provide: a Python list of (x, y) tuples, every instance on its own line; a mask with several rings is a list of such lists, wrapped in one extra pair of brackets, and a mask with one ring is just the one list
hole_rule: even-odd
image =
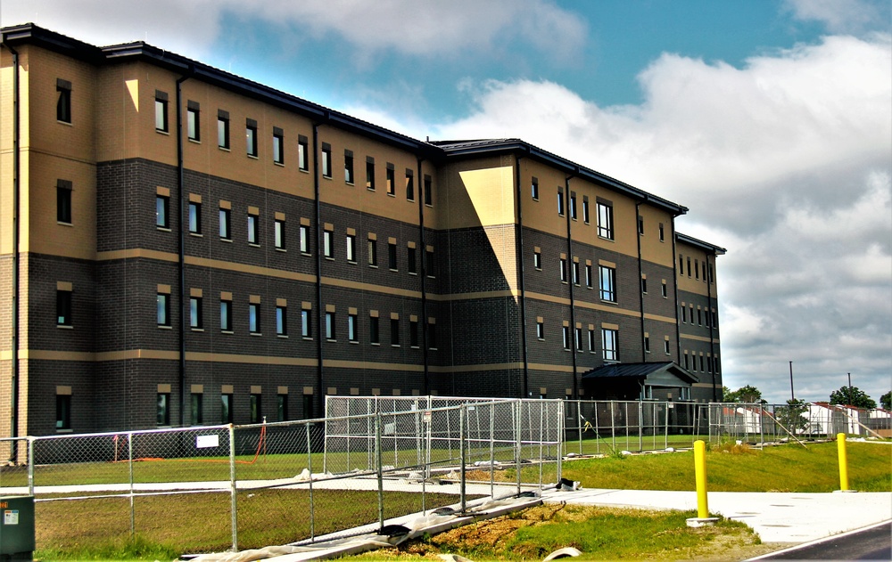
[(728, 386), (826, 400), (853, 373), (892, 378), (892, 47), (831, 36), (742, 68), (665, 53), (644, 102), (599, 107), (564, 86), (464, 85), (442, 138), (521, 137), (690, 208), (682, 232), (720, 258)]

